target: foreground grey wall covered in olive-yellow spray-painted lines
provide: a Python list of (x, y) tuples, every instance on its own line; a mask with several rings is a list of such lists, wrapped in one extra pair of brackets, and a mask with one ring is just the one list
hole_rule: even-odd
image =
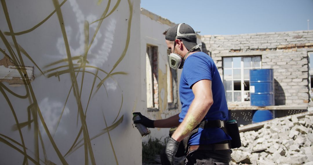
[(139, 6), (1, 1), (0, 164), (141, 164)]

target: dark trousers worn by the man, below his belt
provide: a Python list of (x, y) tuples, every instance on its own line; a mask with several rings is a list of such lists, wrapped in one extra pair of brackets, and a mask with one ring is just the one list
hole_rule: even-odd
[(209, 164), (229, 164), (230, 154), (233, 151), (231, 149), (227, 150), (195, 150), (188, 153), (185, 158), (185, 165), (209, 165)]

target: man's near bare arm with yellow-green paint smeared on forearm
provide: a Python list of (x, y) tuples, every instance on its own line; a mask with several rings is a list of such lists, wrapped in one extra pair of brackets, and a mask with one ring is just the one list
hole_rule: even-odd
[(192, 86), (195, 95), (188, 112), (172, 135), (177, 142), (182, 141), (204, 118), (213, 104), (211, 80), (200, 80)]

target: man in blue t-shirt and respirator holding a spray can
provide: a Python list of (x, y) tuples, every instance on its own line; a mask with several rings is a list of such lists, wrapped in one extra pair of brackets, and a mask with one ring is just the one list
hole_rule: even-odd
[(182, 111), (155, 121), (136, 113), (141, 116), (136, 123), (149, 128), (178, 126), (161, 156), (162, 164), (173, 164), (184, 138), (187, 138), (185, 164), (228, 164), (232, 153), (228, 143), (231, 138), (220, 127), (223, 123), (219, 123), (227, 120), (228, 107), (217, 68), (212, 58), (198, 48), (196, 34), (189, 25), (176, 24), (163, 34), (172, 52), (169, 56), (171, 67), (183, 67), (179, 84)]

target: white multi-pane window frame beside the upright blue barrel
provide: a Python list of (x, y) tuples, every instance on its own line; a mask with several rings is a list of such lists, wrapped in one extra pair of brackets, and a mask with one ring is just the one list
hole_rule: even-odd
[[(244, 79), (244, 69), (262, 69), (262, 57), (261, 56), (236, 56), (236, 57), (223, 57), (223, 61), (224, 61), (224, 58), (238, 58), (240, 57), (241, 58), (241, 61), (240, 61), (240, 68), (233, 68), (234, 64), (233, 64), (233, 60), (232, 60), (232, 64), (231, 64), (231, 68), (224, 68), (223, 66), (223, 83), (224, 81), (231, 81), (232, 82), (232, 90), (226, 90), (225, 88), (225, 95), (226, 95), (226, 98), (227, 98), (227, 92), (232, 92), (232, 100), (231, 101), (228, 101), (227, 102), (238, 102), (238, 101), (234, 101), (234, 92), (240, 92), (241, 91), (241, 101), (239, 102), (250, 102), (250, 101), (244, 101), (244, 94), (245, 93), (249, 93), (250, 90), (244, 90), (244, 81), (249, 81), (250, 79), (249, 78), (246, 78)], [(247, 58), (247, 57), (250, 57), (251, 58), (251, 67), (249, 68), (246, 68), (244, 67), (244, 58)], [(260, 57), (260, 67), (252, 67), (252, 58), (253, 57)], [(228, 80), (225, 80), (225, 75), (224, 75), (224, 69), (227, 69), (227, 70), (232, 70), (232, 79), (228, 79)], [(240, 69), (240, 79), (234, 79), (234, 74), (233, 74), (233, 70), (234, 69)], [(234, 81), (240, 81), (240, 87), (241, 87), (241, 90), (240, 91), (235, 91), (234, 90)], [(250, 86), (250, 84), (249, 84)]]

